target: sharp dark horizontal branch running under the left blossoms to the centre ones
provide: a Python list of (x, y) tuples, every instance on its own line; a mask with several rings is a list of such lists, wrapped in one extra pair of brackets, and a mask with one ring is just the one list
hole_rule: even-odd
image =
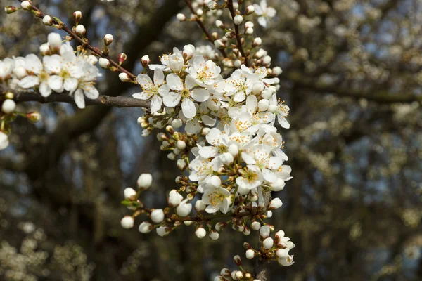
[[(37, 103), (72, 103), (75, 104), (73, 96), (66, 93), (54, 93), (48, 97), (43, 97), (39, 93), (20, 92), (15, 93), (16, 102), (35, 101)], [(103, 105), (114, 107), (149, 107), (149, 100), (139, 100), (125, 96), (99, 96), (95, 100), (85, 98), (85, 105)]]

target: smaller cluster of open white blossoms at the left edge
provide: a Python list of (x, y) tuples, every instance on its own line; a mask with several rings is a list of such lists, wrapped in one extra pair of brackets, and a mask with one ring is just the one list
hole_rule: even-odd
[(101, 76), (95, 66), (98, 59), (75, 53), (69, 42), (62, 43), (58, 33), (50, 33), (48, 42), (39, 47), (43, 58), (29, 54), (23, 57), (5, 58), (0, 61), (0, 83), (9, 89), (34, 89), (41, 96), (67, 91), (75, 97), (77, 107), (85, 107), (85, 99), (98, 98), (96, 78)]

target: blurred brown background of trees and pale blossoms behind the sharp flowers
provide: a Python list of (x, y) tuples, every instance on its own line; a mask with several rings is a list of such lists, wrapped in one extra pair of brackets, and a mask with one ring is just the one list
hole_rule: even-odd
[[(255, 34), (283, 68), (291, 129), (280, 130), (293, 167), (271, 223), (296, 244), (295, 264), (270, 265), (269, 280), (422, 280), (422, 1), (268, 2), (276, 18)], [(209, 44), (195, 23), (175, 20), (188, 14), (184, 1), (34, 4), (70, 25), (82, 11), (91, 42), (113, 34), (111, 54), (127, 53), (135, 73), (142, 55), (156, 63), (174, 46)], [(0, 58), (38, 53), (53, 31), (30, 13), (0, 22)], [(101, 80), (103, 95), (139, 91), (116, 74)], [(120, 227), (122, 190), (141, 172), (154, 176), (142, 196), (155, 207), (177, 175), (154, 134), (141, 138), (141, 109), (20, 108), (44, 119), (17, 119), (0, 152), (0, 280), (212, 280), (236, 268), (235, 254), (245, 260), (241, 245), (255, 237), (231, 230), (212, 241), (193, 226), (166, 238)]]

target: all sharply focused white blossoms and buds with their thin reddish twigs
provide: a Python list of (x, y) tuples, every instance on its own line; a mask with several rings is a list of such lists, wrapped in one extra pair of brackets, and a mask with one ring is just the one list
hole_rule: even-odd
[[(279, 198), (266, 200), (266, 195), (283, 190), (291, 178), (290, 166), (284, 164), (288, 157), (283, 152), (283, 138), (276, 128), (276, 123), (290, 127), (286, 119), (289, 107), (276, 94), (281, 68), (271, 67), (271, 57), (260, 48), (262, 40), (254, 36), (253, 23), (256, 19), (267, 27), (275, 10), (264, 0), (243, 8), (241, 0), (186, 0), (186, 4), (191, 16), (179, 14), (177, 19), (197, 22), (219, 53), (211, 46), (189, 44), (162, 55), (159, 64), (152, 64), (145, 55), (141, 58), (143, 71), (135, 76), (121, 66), (126, 59), (124, 53), (118, 63), (108, 56), (112, 35), (104, 37), (103, 51), (89, 44), (87, 30), (78, 24), (82, 17), (79, 11), (74, 13), (75, 26), (70, 29), (58, 18), (39, 11), (31, 1), (21, 1), (23, 10), (69, 36), (62, 44), (60, 35), (49, 34), (48, 43), (40, 47), (42, 60), (33, 54), (4, 59), (0, 62), (0, 82), (8, 89), (31, 89), (42, 96), (67, 91), (75, 96), (79, 108), (85, 106), (84, 96), (98, 97), (94, 86), (100, 76), (97, 61), (105, 69), (120, 72), (122, 82), (139, 84), (141, 91), (133, 98), (150, 102), (150, 108), (138, 119), (142, 136), (160, 130), (157, 138), (162, 142), (161, 149), (177, 162), (181, 176), (169, 192), (168, 206), (154, 209), (139, 200), (141, 192), (153, 184), (151, 174), (142, 174), (137, 190), (124, 190), (122, 204), (132, 215), (122, 218), (122, 227), (132, 228), (139, 217), (141, 233), (155, 230), (165, 236), (179, 226), (193, 225), (198, 238), (208, 234), (212, 240), (217, 240), (226, 226), (243, 235), (257, 230), (259, 249), (245, 244), (246, 257), (289, 266), (293, 256), (288, 251), (294, 244), (282, 230), (271, 238), (274, 226), (265, 222), (271, 211), (282, 205)], [(6, 7), (8, 13), (17, 10)], [(250, 20), (246, 20), (248, 17)], [(210, 20), (218, 32), (207, 30), (205, 23)], [(70, 46), (71, 40), (79, 42), (77, 51)], [(13, 102), (11, 95), (4, 95), (2, 120), (15, 111), (7, 104), (8, 100)], [(0, 148), (5, 143), (2, 138), (0, 135)], [(196, 214), (191, 216), (193, 209)], [(253, 280), (254, 276), (241, 268), (224, 271), (218, 278)]]

